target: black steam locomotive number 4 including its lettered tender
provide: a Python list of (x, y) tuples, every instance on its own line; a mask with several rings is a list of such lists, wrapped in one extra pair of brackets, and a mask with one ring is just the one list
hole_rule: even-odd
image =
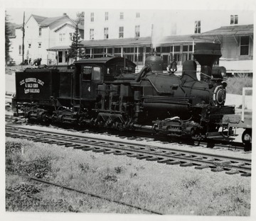
[(123, 57), (101, 57), (75, 62), (74, 69), (26, 69), (16, 73), (16, 113), (29, 120), (79, 126), (146, 130), (192, 138), (215, 135), (226, 128), (224, 67), (213, 67), (220, 45), (197, 43), (196, 62), (183, 62), (181, 76), (163, 72), (161, 57), (136, 64)]

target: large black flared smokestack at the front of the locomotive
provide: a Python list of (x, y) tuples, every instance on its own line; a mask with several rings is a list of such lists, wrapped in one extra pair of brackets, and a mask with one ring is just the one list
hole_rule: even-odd
[(196, 43), (193, 56), (201, 64), (201, 80), (209, 81), (213, 64), (221, 57), (220, 44), (201, 42)]

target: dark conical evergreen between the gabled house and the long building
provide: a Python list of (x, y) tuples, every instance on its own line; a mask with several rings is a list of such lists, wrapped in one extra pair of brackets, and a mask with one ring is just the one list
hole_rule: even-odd
[(68, 60), (70, 58), (75, 58), (75, 61), (78, 60), (78, 57), (82, 57), (82, 39), (80, 37), (78, 24), (75, 26), (75, 33), (73, 34), (72, 44), (68, 50)]

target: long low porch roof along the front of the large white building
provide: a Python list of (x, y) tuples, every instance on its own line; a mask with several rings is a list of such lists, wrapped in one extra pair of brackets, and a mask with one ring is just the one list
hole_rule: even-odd
[[(151, 45), (151, 37), (140, 38), (118, 38), (118, 39), (103, 39), (103, 40), (83, 40), (82, 45), (87, 47), (104, 47), (112, 45)], [(180, 43), (180, 42), (193, 42), (191, 35), (171, 35), (161, 39), (159, 44), (165, 43)]]

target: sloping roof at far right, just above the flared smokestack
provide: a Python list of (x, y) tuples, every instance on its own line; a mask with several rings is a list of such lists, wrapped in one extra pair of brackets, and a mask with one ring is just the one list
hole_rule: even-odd
[(192, 38), (214, 37), (214, 36), (245, 36), (253, 35), (253, 25), (245, 26), (223, 26), (205, 33), (192, 35)]

